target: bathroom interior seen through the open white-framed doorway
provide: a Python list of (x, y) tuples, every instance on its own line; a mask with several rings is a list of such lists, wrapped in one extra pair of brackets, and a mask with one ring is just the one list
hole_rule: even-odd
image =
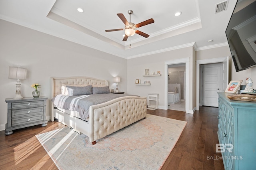
[(168, 109), (185, 110), (185, 63), (168, 65)]

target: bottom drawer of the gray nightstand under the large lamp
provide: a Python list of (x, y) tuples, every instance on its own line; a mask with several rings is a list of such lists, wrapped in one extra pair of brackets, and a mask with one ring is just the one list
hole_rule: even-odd
[(44, 115), (34, 115), (30, 117), (23, 117), (21, 118), (14, 118), (12, 119), (12, 126), (19, 126), (19, 125), (25, 125), (26, 123), (33, 123), (37, 121), (43, 121), (44, 120)]

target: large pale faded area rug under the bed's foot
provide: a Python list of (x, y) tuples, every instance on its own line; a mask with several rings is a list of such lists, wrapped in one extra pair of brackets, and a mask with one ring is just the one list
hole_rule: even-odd
[(147, 115), (92, 145), (84, 134), (68, 127), (36, 137), (61, 170), (142, 169), (162, 167), (174, 148), (186, 122)]

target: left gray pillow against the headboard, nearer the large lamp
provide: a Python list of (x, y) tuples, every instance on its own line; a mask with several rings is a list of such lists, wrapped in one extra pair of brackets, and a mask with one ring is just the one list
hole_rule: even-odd
[(66, 86), (68, 89), (69, 96), (79, 96), (79, 95), (91, 95), (92, 94), (92, 85), (85, 87), (78, 86)]

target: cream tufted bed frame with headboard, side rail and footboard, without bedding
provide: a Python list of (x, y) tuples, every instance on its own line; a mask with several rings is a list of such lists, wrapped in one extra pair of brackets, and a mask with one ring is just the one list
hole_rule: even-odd
[[(51, 99), (63, 93), (63, 85), (68, 85), (68, 87), (91, 85), (92, 88), (108, 86), (108, 81), (91, 77), (51, 77), (50, 82)], [(76, 132), (85, 134), (92, 144), (96, 144), (96, 140), (108, 134), (146, 118), (147, 112), (146, 97), (132, 95), (120, 95), (116, 99), (91, 105), (88, 111), (89, 117), (86, 120), (77, 116), (77, 111), (57, 108), (52, 101), (50, 107), (51, 121), (54, 121), (54, 118), (58, 119), (60, 123), (73, 128)]]

